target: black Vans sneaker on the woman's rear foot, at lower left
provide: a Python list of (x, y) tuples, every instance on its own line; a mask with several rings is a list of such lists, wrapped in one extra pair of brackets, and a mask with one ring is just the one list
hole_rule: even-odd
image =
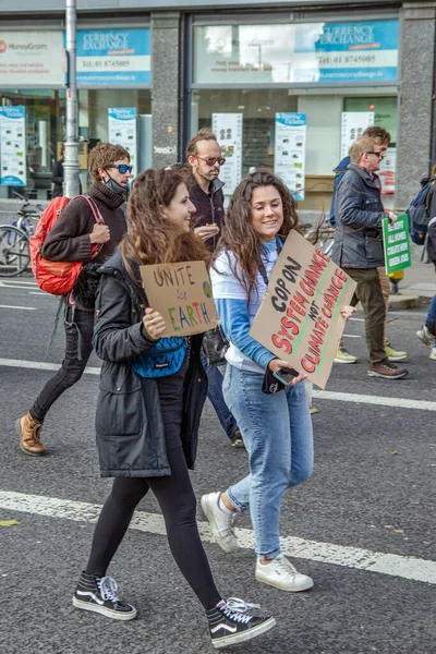
[(73, 606), (99, 613), (113, 620), (133, 620), (134, 606), (117, 597), (117, 583), (111, 577), (97, 577), (82, 572), (73, 597)]

